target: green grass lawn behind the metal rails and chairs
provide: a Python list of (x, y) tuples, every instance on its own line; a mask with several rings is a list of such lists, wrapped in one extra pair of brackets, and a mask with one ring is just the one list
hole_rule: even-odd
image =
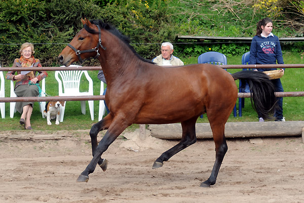
[[(300, 54), (284, 53), (284, 62), (286, 64), (304, 63)], [(197, 63), (197, 57), (181, 58), (185, 64)], [(241, 56), (227, 57), (228, 64), (241, 64)], [(238, 69), (228, 70), (230, 73), (240, 71)], [(48, 72), (49, 76), (46, 78), (46, 93), (50, 96), (58, 95), (58, 83), (54, 77), (53, 71)], [(93, 80), (94, 95), (100, 93), (100, 81), (97, 78), (98, 71), (89, 71), (89, 75)], [(4, 72), (6, 74), (6, 72)], [(304, 69), (286, 69), (284, 76), (281, 78), (283, 88), (285, 91), (304, 91), (303, 76)], [(83, 85), (82, 91), (86, 91), (88, 83), (85, 77), (82, 77)], [(236, 81), (238, 85), (239, 81)], [(6, 97), (9, 97), (10, 81), (6, 80)], [(47, 125), (46, 118), (42, 118), (42, 114), (39, 111), (38, 103), (34, 104), (33, 114), (31, 116), (31, 125), (37, 130), (44, 131), (57, 131), (57, 130), (78, 130), (78, 129), (90, 129), (91, 126), (98, 121), (98, 107), (99, 101), (94, 101), (94, 121), (91, 120), (88, 103), (86, 102), (86, 115), (81, 113), (80, 101), (67, 101), (64, 120), (59, 125), (55, 125), (55, 121), (52, 120), (52, 125)], [(238, 105), (237, 105), (238, 108)], [(10, 118), (10, 105), (6, 104), (6, 118), (0, 118), (1, 130), (21, 130), (19, 125), (20, 113), (16, 112), (14, 118)], [(257, 114), (251, 107), (250, 98), (245, 98), (245, 108), (242, 110), (242, 117), (234, 117), (231, 114), (228, 122), (236, 121), (257, 121)], [(283, 99), (283, 114), (287, 121), (304, 120), (304, 97), (284, 97)], [(203, 119), (199, 118), (198, 122), (208, 122), (206, 116)], [(138, 125), (132, 125), (128, 129), (135, 129)]]

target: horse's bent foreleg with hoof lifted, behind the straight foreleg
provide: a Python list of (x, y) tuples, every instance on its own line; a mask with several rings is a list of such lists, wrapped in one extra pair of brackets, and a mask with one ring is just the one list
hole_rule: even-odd
[[(94, 156), (95, 150), (97, 148), (97, 134), (101, 130), (108, 129), (110, 124), (112, 122), (112, 114), (108, 114), (106, 117), (104, 117), (102, 120), (100, 120), (98, 123), (95, 123), (90, 130), (90, 137), (91, 137), (91, 144), (92, 144), (92, 154)], [(107, 167), (107, 160), (102, 159), (100, 157), (98, 161), (98, 165), (101, 167), (102, 171), (106, 170)]]

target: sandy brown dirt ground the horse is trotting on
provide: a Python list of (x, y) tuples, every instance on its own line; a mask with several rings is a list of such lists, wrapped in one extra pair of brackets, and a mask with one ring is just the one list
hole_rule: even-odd
[(116, 140), (104, 153), (107, 171), (97, 167), (88, 183), (77, 183), (92, 158), (88, 131), (24, 136), (0, 135), (0, 202), (304, 202), (301, 138), (228, 139), (217, 183), (201, 188), (215, 159), (212, 140), (152, 170), (177, 141), (141, 141), (137, 132), (126, 133), (129, 140)]

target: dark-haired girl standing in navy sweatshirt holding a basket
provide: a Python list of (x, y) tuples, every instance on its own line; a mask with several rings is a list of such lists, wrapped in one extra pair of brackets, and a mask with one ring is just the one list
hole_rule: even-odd
[[(256, 35), (253, 37), (250, 46), (250, 64), (284, 64), (282, 49), (279, 38), (272, 33), (273, 24), (270, 18), (263, 18), (257, 23)], [(256, 69), (257, 71), (272, 71), (273, 69)], [(284, 75), (285, 69), (280, 69)], [(276, 92), (283, 92), (280, 78), (271, 80)], [(285, 121), (283, 117), (283, 97), (277, 97), (278, 108), (275, 112), (275, 121)], [(258, 112), (258, 110), (257, 110)], [(264, 119), (259, 115), (259, 121)]]

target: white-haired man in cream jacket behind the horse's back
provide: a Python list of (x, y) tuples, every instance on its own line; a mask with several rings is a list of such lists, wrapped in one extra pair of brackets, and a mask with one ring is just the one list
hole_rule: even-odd
[(155, 62), (158, 65), (183, 65), (183, 62), (177, 58), (176, 56), (173, 56), (173, 45), (170, 42), (164, 42), (161, 46), (161, 52), (162, 54), (158, 55), (154, 59), (152, 59), (153, 62)]

